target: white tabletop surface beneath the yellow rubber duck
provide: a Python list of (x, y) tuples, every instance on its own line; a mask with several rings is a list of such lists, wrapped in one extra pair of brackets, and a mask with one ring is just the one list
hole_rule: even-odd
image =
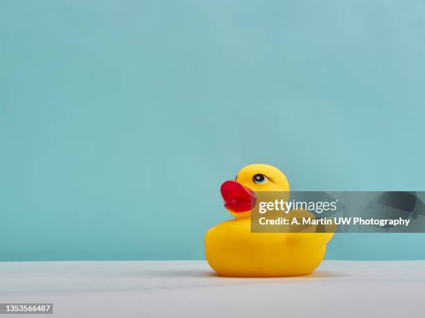
[[(325, 261), (279, 279), (219, 277), (204, 261), (5, 262), (0, 302), (53, 303), (53, 317), (423, 318), (425, 261)], [(12, 317), (26, 316), (52, 317)]]

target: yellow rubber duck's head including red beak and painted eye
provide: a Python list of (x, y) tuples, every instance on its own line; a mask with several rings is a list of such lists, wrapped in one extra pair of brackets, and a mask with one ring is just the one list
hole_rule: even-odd
[(235, 181), (229, 180), (220, 189), (226, 209), (235, 218), (248, 218), (251, 209), (256, 206), (256, 192), (285, 191), (290, 187), (285, 175), (267, 164), (251, 164), (242, 168)]

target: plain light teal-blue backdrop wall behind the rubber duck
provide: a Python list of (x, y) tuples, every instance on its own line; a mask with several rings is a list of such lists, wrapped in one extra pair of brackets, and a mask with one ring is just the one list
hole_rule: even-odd
[[(246, 164), (425, 190), (423, 1), (0, 1), (0, 260), (198, 259)], [(424, 259), (423, 234), (331, 259)]]

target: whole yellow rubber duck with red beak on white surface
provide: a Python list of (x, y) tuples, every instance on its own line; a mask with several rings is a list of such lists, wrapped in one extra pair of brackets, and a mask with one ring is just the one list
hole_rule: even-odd
[[(333, 233), (251, 233), (257, 191), (285, 191), (285, 175), (266, 164), (246, 166), (222, 184), (224, 206), (234, 216), (206, 233), (208, 264), (222, 276), (278, 277), (312, 273)], [(309, 212), (308, 212), (309, 213)]]

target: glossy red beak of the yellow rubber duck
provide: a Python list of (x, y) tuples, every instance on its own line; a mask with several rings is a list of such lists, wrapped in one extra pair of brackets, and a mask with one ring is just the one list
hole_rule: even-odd
[(220, 188), (224, 207), (233, 213), (246, 212), (256, 206), (256, 194), (239, 182), (226, 181)]

